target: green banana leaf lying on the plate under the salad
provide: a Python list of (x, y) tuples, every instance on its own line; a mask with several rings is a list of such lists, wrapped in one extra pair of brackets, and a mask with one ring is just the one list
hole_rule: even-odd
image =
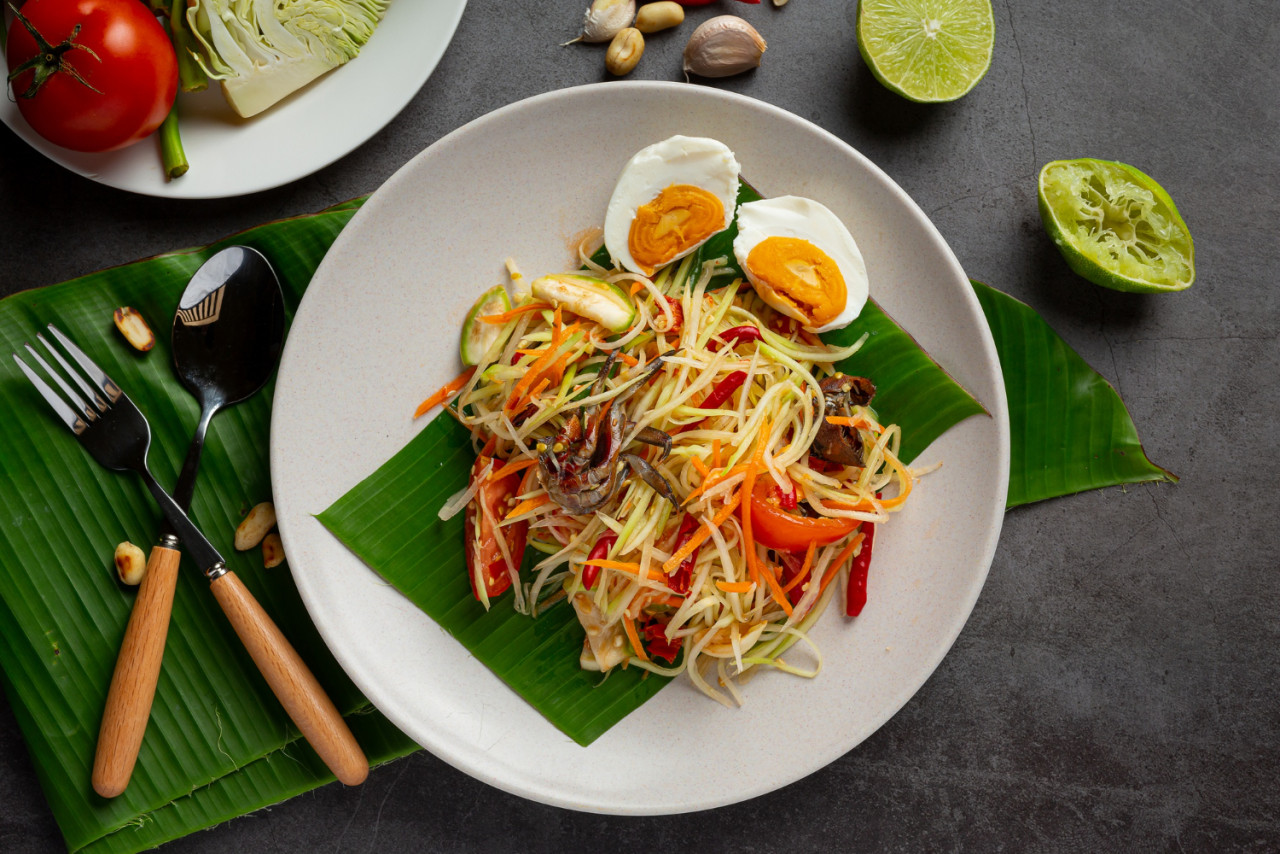
[[(840, 367), (877, 384), (881, 417), (911, 437), (901, 446), (906, 461), (986, 411), (874, 303), (833, 337), (851, 342), (863, 333), (869, 343)], [(516, 613), (508, 599), (488, 612), (475, 600), (463, 568), (462, 515), (444, 522), (436, 516), (466, 487), (474, 461), (467, 430), (438, 415), (317, 519), (557, 729), (588, 745), (669, 680), (640, 670), (604, 680), (584, 671), (582, 629), (564, 600), (536, 618)]]

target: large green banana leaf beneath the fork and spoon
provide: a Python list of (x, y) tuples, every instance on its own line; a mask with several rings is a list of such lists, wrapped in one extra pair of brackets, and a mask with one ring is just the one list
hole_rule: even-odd
[[(56, 323), (133, 397), (151, 423), (150, 462), (172, 485), (198, 407), (170, 369), (168, 326), (187, 279), (229, 242), (276, 266), (292, 318), (302, 292), (355, 206), (261, 227), (0, 302), (0, 352), (19, 351)], [(131, 350), (111, 312), (132, 305), (157, 343)], [(133, 589), (119, 585), (115, 544), (147, 548), (157, 511), (141, 480), (93, 462), (18, 373), (0, 369), (0, 663), (4, 689), (70, 850), (154, 848), (332, 780), (298, 739), (198, 571), (184, 561), (155, 705), (128, 790), (105, 800), (90, 787), (97, 727)], [(220, 414), (210, 429), (192, 503), (195, 521), (275, 617), (348, 714), (374, 762), (415, 745), (372, 711), (334, 662), (285, 566), (264, 570), (237, 553), (241, 515), (270, 498), (271, 388)]]

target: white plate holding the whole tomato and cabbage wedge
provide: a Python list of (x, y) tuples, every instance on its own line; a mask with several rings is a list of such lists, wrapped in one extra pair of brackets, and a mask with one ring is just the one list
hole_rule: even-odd
[(0, 122), (54, 163), (109, 187), (170, 198), (270, 189), (328, 166), (396, 118), (440, 61), (465, 6), (466, 0), (396, 0), (360, 56), (251, 119), (236, 115), (216, 82), (180, 95), (191, 170), (175, 181), (164, 178), (155, 138), (102, 154), (70, 151), (32, 131), (12, 92), (0, 100)]

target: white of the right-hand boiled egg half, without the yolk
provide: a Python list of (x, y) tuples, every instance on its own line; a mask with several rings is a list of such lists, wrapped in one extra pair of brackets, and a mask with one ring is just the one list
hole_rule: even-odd
[(854, 236), (826, 205), (801, 196), (778, 196), (746, 202), (737, 209), (737, 237), (733, 256), (751, 284), (756, 277), (746, 266), (746, 257), (768, 237), (796, 237), (809, 241), (826, 252), (845, 278), (845, 307), (836, 318), (813, 332), (842, 329), (854, 321), (867, 305), (867, 262)]

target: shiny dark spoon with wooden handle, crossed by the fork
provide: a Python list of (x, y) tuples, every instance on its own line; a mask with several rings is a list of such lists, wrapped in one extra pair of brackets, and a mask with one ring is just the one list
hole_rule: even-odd
[[(201, 410), (173, 490), (183, 511), (196, 488), (209, 423), (220, 408), (266, 384), (283, 341), (284, 297), (261, 252), (232, 246), (196, 270), (178, 301), (170, 334), (174, 371)], [(133, 602), (102, 713), (92, 781), (104, 798), (124, 791), (138, 758), (160, 677), (179, 557), (178, 538), (164, 526)]]

